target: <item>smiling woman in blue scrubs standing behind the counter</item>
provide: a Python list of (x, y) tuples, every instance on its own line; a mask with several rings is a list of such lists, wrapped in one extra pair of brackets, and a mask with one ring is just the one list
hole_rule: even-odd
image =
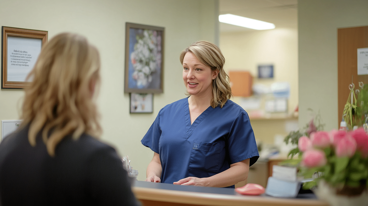
[(247, 112), (229, 100), (223, 54), (199, 41), (180, 62), (189, 97), (163, 107), (142, 139), (154, 152), (146, 181), (234, 188), (259, 154)]

